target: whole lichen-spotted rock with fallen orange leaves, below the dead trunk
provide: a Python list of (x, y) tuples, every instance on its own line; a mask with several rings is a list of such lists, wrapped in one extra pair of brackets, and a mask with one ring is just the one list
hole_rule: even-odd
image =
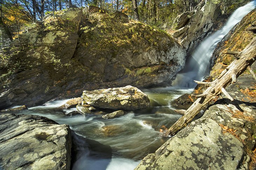
[(146, 156), (136, 169), (249, 169), (245, 147), (254, 148), (255, 123), (245, 117), (255, 117), (256, 110), (239, 106), (244, 110), (240, 116), (235, 105), (211, 106), (202, 118)]

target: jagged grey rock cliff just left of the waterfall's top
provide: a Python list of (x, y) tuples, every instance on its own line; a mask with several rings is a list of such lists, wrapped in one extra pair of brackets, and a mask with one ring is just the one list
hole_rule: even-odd
[(213, 31), (219, 29), (225, 17), (221, 14), (220, 4), (214, 0), (202, 1), (195, 11), (186, 12), (177, 18), (177, 31), (173, 37), (180, 40), (191, 53)]

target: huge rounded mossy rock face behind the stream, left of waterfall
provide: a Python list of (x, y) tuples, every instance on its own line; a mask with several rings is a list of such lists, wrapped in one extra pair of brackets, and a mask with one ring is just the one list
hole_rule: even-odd
[(170, 84), (186, 51), (167, 33), (118, 14), (70, 8), (49, 14), (2, 50), (0, 109), (82, 90)]

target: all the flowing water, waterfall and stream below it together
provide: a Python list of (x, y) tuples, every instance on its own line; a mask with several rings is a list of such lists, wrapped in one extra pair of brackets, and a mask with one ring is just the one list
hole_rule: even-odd
[(191, 54), (186, 69), (178, 74), (173, 87), (142, 89), (150, 98), (151, 106), (147, 109), (114, 119), (103, 119), (100, 113), (69, 117), (65, 114), (76, 108), (56, 109), (67, 99), (29, 108), (20, 114), (45, 116), (70, 126), (75, 152), (73, 170), (132, 170), (144, 156), (155, 152), (168, 140), (161, 132), (181, 117), (173, 111), (171, 101), (193, 91), (193, 80), (202, 80), (209, 73), (210, 58), (217, 43), (254, 8), (253, 2), (238, 8), (222, 29), (204, 40)]

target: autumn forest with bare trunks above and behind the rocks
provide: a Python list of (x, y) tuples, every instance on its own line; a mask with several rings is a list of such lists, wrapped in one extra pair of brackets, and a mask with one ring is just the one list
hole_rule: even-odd
[[(248, 0), (211, 0), (229, 15)], [(163, 30), (175, 30), (176, 17), (193, 11), (207, 0), (0, 0), (1, 49), (18, 38), (28, 25), (43, 21), (45, 15), (70, 7), (98, 6), (109, 12), (123, 12), (131, 20), (140, 20)]]

